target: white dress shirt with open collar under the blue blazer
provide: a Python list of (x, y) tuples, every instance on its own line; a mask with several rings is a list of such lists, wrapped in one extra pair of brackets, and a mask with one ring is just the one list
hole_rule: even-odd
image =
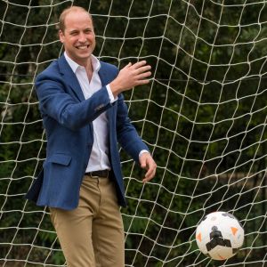
[[(101, 63), (95, 56), (93, 56), (93, 54), (91, 55), (93, 75), (90, 82), (87, 77), (85, 67), (80, 66), (77, 64), (77, 62), (71, 60), (66, 52), (64, 53), (64, 56), (66, 58), (66, 61), (69, 63), (70, 68), (73, 70), (74, 74), (77, 77), (79, 85), (81, 86), (84, 93), (85, 99), (90, 98), (93, 93), (101, 89), (101, 79), (98, 74), (98, 71), (101, 68)], [(109, 93), (110, 103), (117, 101), (117, 97), (114, 98), (109, 85), (106, 85), (106, 88)], [(99, 170), (110, 170), (108, 125), (109, 122), (106, 112), (101, 113), (99, 117), (96, 117), (93, 120), (93, 149), (89, 158), (88, 165), (86, 167), (86, 173)], [(148, 151), (142, 150), (139, 154), (139, 157), (144, 152)]]

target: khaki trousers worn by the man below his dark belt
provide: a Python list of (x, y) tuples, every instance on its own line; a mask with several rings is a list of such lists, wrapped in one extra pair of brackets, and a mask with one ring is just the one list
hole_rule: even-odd
[(115, 185), (85, 175), (76, 209), (50, 208), (68, 267), (125, 266), (125, 237)]

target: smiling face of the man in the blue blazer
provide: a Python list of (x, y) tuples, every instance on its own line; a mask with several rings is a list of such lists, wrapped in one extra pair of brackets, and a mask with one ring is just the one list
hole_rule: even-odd
[(65, 17), (64, 32), (60, 30), (60, 40), (69, 57), (85, 66), (95, 47), (93, 21), (86, 12), (69, 12)]

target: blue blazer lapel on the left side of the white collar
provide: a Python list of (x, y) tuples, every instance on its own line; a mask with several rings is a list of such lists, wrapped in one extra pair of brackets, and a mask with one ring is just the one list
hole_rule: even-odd
[(77, 98), (79, 99), (79, 101), (84, 101), (85, 96), (82, 91), (82, 88), (79, 85), (76, 75), (73, 73), (72, 69), (69, 67), (69, 64), (66, 61), (64, 55), (61, 55), (58, 62), (59, 62), (60, 72), (64, 76), (66, 83), (70, 86), (72, 91), (77, 95)]

